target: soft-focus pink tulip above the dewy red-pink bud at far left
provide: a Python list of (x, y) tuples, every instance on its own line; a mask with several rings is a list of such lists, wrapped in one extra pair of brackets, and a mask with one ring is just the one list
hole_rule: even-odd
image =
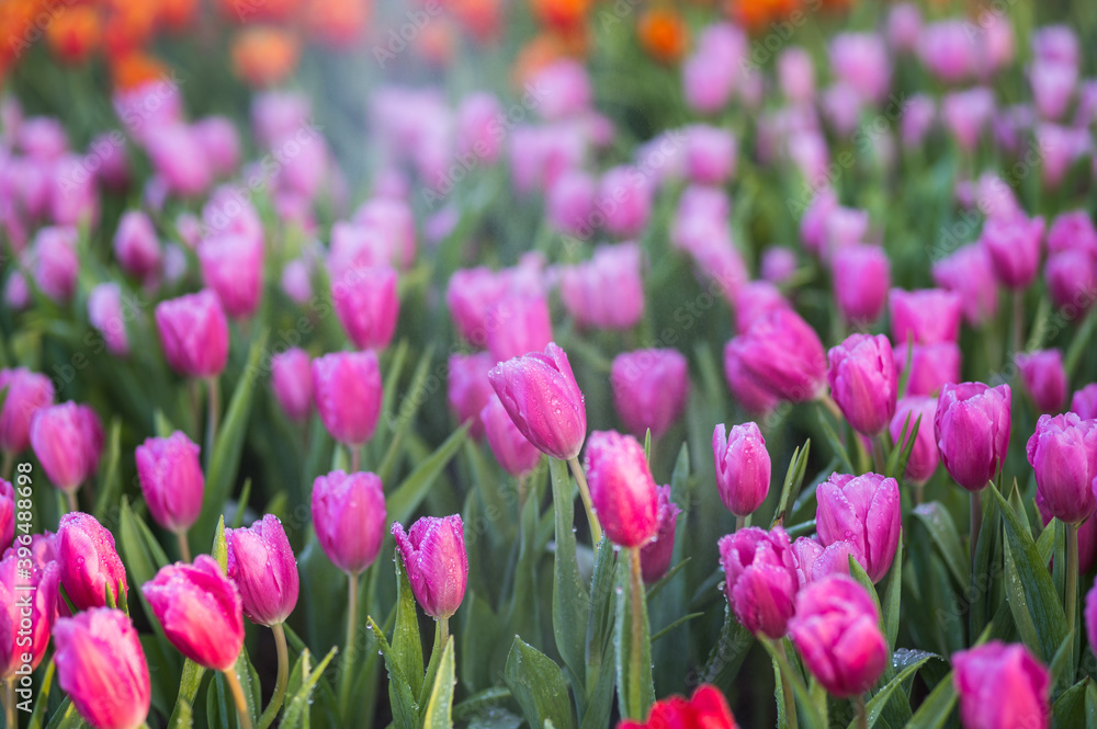
[(103, 429), (87, 406), (48, 406), (34, 413), (31, 445), (54, 486), (72, 492), (99, 467)]

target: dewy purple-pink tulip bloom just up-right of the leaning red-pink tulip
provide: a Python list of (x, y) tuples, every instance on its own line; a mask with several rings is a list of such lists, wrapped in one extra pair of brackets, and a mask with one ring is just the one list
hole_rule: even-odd
[(228, 579), (257, 625), (282, 623), (297, 605), (297, 560), (282, 522), (267, 514), (250, 528), (225, 529)]

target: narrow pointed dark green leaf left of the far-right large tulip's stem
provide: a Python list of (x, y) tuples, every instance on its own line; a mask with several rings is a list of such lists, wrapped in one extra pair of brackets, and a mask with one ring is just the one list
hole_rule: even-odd
[[(1014, 569), (1009, 569), (1008, 561), (1006, 566), (1007, 589), (1015, 595), (1018, 594), (1018, 590), (1024, 592), (1028, 613), (1031, 615), (1039, 638), (1039, 645), (1029, 647), (1033, 650), (1039, 649), (1044, 662), (1050, 662), (1068, 633), (1066, 615), (1063, 613), (1051, 574), (1048, 573), (1045, 563), (1041, 562), (1040, 553), (1028, 528), (1009, 508), (998, 489), (993, 485), (987, 488), (998, 503), (998, 511), (1002, 512), (1006, 544), (1009, 546), (1013, 561)], [(1010, 602), (1010, 608), (1014, 611), (1014, 618), (1020, 622), (1022, 616), (1018, 615), (1018, 610), (1024, 607), (1015, 606)]]

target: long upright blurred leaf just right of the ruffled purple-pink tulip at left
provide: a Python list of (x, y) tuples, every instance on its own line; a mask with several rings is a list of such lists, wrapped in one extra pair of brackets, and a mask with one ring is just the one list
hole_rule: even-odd
[(261, 372), (260, 358), (267, 345), (267, 332), (263, 331), (251, 344), (248, 362), (237, 380), (233, 399), (222, 419), (213, 452), (206, 454), (205, 493), (202, 498), (202, 513), (191, 532), (192, 542), (208, 544), (216, 529), (217, 517), (228, 501), (240, 465), (240, 453), (244, 451), (244, 437), (248, 430), (248, 419), (251, 414), (251, 398), (256, 389), (258, 373)]

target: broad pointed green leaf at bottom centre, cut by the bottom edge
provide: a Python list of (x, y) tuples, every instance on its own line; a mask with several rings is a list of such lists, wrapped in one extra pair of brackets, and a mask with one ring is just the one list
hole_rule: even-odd
[(552, 721), (558, 729), (575, 729), (567, 683), (559, 667), (518, 636), (502, 677), (531, 727)]

